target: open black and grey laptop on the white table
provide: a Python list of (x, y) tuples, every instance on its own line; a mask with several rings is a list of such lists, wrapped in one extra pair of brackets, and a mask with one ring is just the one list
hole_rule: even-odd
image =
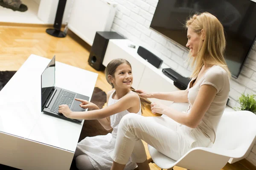
[(55, 87), (55, 56), (49, 62), (41, 75), (41, 112), (72, 122), (82, 122), (81, 119), (70, 119), (58, 113), (59, 105), (68, 105), (71, 111), (85, 111), (75, 98), (89, 100), (88, 96)]

